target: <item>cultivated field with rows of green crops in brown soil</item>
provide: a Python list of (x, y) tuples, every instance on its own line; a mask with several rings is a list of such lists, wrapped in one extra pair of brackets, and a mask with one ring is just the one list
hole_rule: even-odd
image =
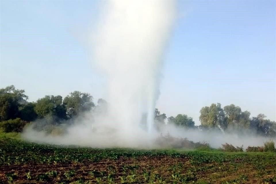
[(57, 147), (2, 138), (0, 183), (276, 183), (276, 154)]

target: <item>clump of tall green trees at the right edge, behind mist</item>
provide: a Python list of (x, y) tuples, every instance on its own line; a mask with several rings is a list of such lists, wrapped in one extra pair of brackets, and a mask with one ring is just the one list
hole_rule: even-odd
[[(200, 110), (200, 122), (203, 129), (219, 129), (231, 133), (243, 134), (244, 132), (255, 132), (266, 137), (276, 136), (276, 122), (266, 120), (264, 114), (250, 119), (250, 112), (241, 111), (239, 106), (231, 104), (221, 108), (221, 104), (211, 104)], [(169, 122), (174, 121), (169, 118)]]

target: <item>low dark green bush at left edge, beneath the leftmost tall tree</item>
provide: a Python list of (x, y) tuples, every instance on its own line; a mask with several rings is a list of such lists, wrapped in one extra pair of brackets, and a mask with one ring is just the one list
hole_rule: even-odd
[(0, 122), (0, 128), (3, 129), (3, 132), (21, 132), (23, 127), (28, 122), (21, 120), (20, 118), (16, 118), (13, 120), (7, 120)]

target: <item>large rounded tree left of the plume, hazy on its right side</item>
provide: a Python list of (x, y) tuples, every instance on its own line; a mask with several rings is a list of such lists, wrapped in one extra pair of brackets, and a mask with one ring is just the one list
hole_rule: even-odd
[(81, 93), (74, 91), (66, 96), (63, 100), (68, 116), (76, 116), (85, 111), (90, 111), (95, 105), (93, 103), (93, 96), (89, 93)]

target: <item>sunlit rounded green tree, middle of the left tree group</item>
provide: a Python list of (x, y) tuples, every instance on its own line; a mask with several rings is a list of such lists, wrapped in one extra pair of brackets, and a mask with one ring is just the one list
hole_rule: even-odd
[(45, 116), (56, 116), (57, 118), (66, 119), (66, 109), (62, 104), (62, 96), (46, 95), (38, 99), (34, 107), (39, 118)]

